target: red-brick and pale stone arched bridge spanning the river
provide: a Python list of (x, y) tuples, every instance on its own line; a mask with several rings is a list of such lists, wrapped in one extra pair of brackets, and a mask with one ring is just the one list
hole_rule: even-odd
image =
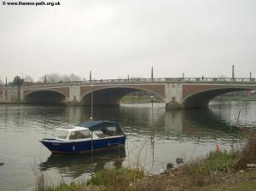
[(256, 90), (255, 78), (131, 78), (79, 81), (58, 84), (24, 85), (20, 89), (23, 103), (64, 103), (119, 105), (121, 98), (136, 90), (158, 95), (166, 108), (207, 107), (213, 97), (239, 90)]

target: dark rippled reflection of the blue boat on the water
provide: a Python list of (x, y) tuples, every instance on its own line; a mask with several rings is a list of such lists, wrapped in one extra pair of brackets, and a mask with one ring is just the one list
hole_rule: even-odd
[(85, 173), (109, 167), (120, 168), (125, 159), (125, 148), (115, 148), (101, 153), (51, 154), (39, 164), (41, 171), (55, 168), (63, 177), (77, 178)]

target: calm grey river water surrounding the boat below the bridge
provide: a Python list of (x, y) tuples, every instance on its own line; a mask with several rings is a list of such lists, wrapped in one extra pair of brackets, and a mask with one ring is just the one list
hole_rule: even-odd
[[(241, 113), (239, 115), (239, 111)], [(239, 119), (238, 119), (239, 115)], [(125, 149), (104, 153), (51, 155), (38, 140), (55, 128), (90, 119), (90, 107), (0, 105), (1, 190), (33, 190), (34, 172), (44, 173), (48, 184), (86, 180), (95, 171), (137, 165), (150, 174), (215, 149), (241, 145), (236, 124), (256, 130), (256, 102), (214, 101), (208, 109), (167, 111), (162, 103), (95, 107), (95, 119), (117, 121), (127, 142)], [(238, 119), (238, 120), (237, 120)]]

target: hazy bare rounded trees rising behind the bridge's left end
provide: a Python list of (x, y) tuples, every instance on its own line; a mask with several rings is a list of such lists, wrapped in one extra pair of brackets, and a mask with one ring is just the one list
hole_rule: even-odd
[(59, 83), (59, 82), (70, 82), (70, 81), (80, 81), (81, 77), (71, 73), (70, 75), (67, 74), (60, 74), (57, 72), (48, 73), (42, 77), (40, 77), (40, 81), (46, 83)]

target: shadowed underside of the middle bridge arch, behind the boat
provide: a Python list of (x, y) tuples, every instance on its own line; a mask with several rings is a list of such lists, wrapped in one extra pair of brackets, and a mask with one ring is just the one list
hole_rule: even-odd
[(101, 106), (118, 106), (123, 96), (130, 94), (131, 92), (137, 90), (144, 90), (152, 93), (155, 96), (160, 96), (160, 98), (164, 101), (164, 97), (160, 95), (158, 92), (153, 90), (138, 88), (138, 87), (125, 87), (125, 86), (114, 86), (114, 87), (94, 87), (93, 90), (89, 90), (81, 95), (80, 103), (82, 105), (90, 105), (91, 102), (91, 92), (93, 92), (93, 103), (94, 105)]

